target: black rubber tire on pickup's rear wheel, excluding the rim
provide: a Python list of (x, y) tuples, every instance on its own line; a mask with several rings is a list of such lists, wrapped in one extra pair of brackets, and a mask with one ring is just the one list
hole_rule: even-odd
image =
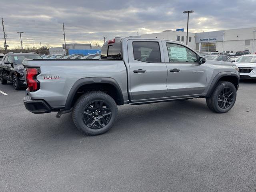
[[(93, 103), (96, 101), (102, 101), (106, 103), (110, 108), (112, 114), (110, 116), (110, 120), (106, 125), (104, 125), (102, 128), (93, 129), (93, 128), (89, 128), (84, 122), (84, 110), (86, 110), (86, 108), (88, 107), (88, 105), (90, 105), (90, 103)], [(78, 98), (78, 100), (76, 101), (73, 107), (72, 118), (78, 130), (84, 132), (84, 134), (86, 135), (92, 136), (92, 135), (103, 134), (108, 130), (110, 130), (110, 128), (112, 128), (116, 120), (117, 114), (118, 114), (118, 109), (116, 106), (116, 102), (111, 96), (109, 96), (104, 92), (92, 91), (92, 92), (85, 93), (82, 96), (80, 96), (80, 98)], [(98, 116), (98, 117), (102, 118), (102, 116), (101, 117)]]

